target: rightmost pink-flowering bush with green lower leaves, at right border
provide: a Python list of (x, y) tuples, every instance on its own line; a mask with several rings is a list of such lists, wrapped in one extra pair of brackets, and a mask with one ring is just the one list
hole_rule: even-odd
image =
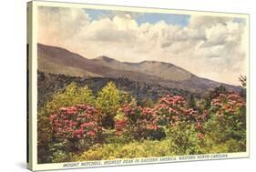
[(213, 144), (223, 144), (234, 139), (241, 145), (237, 147), (237, 151), (245, 150), (245, 111), (244, 99), (234, 93), (220, 94), (211, 101), (210, 119), (206, 122), (204, 130)]

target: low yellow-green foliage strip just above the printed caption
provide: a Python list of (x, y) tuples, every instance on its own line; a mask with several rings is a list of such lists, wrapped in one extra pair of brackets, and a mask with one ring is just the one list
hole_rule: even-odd
[(106, 144), (95, 146), (82, 155), (74, 156), (73, 161), (173, 156), (169, 140), (130, 142), (127, 144)]

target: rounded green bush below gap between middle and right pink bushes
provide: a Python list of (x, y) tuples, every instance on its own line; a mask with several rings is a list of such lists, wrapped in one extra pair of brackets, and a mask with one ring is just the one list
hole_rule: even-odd
[(195, 127), (188, 122), (177, 122), (168, 128), (171, 152), (175, 155), (201, 154), (200, 139)]

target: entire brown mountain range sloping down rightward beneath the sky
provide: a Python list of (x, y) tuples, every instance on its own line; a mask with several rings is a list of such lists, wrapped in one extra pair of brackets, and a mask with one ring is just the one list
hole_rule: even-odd
[(131, 81), (183, 89), (193, 93), (204, 93), (220, 85), (226, 86), (232, 91), (241, 90), (240, 86), (231, 86), (201, 78), (169, 63), (157, 61), (128, 63), (108, 56), (87, 59), (67, 49), (42, 44), (37, 45), (37, 55), (38, 70), (44, 73), (86, 78), (128, 78)]

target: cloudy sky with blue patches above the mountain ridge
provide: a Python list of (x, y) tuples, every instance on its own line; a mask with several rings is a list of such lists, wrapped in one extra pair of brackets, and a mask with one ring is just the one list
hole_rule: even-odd
[(212, 80), (240, 85), (246, 74), (242, 18), (38, 7), (38, 42), (87, 58), (169, 62)]

